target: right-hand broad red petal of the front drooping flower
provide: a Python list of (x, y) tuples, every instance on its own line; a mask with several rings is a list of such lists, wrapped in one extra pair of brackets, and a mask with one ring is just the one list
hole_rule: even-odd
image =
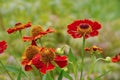
[(59, 55), (56, 56), (55, 62), (60, 68), (67, 66), (68, 63), (66, 56), (59, 56)]

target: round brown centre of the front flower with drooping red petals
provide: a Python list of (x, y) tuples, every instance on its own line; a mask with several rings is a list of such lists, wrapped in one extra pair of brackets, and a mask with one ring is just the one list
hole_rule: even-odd
[(54, 58), (55, 58), (55, 53), (53, 51), (51, 51), (51, 49), (44, 48), (41, 51), (41, 60), (44, 63), (51, 62), (54, 60)]

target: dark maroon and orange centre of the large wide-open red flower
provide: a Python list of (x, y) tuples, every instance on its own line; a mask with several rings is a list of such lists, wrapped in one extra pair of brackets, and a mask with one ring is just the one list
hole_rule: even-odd
[(82, 35), (89, 34), (90, 32), (92, 32), (92, 28), (88, 24), (81, 24), (77, 27), (77, 32)]

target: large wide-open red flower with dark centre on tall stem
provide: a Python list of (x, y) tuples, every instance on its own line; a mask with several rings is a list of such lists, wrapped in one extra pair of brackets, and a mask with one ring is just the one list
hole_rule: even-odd
[(94, 37), (98, 35), (98, 30), (101, 28), (101, 24), (98, 22), (93, 22), (91, 20), (76, 20), (73, 23), (68, 25), (68, 34), (70, 34), (73, 38), (81, 38), (85, 36)]

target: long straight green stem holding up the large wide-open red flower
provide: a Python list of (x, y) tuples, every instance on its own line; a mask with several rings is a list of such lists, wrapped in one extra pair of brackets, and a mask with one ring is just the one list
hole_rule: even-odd
[(82, 52), (81, 52), (82, 61), (81, 61), (81, 74), (80, 74), (80, 80), (83, 80), (84, 48), (85, 48), (85, 37), (83, 36)]

